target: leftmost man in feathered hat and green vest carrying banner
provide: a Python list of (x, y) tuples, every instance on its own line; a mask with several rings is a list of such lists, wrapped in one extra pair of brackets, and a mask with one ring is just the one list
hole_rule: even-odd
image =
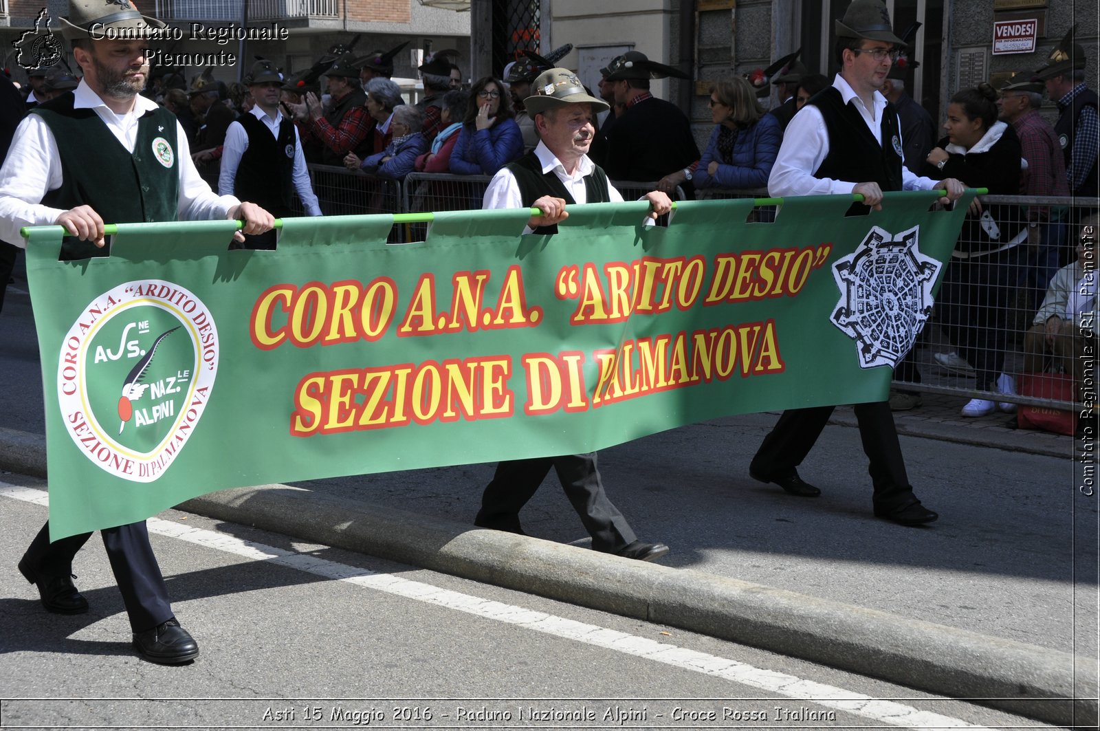
[[(148, 74), (148, 42), (89, 34), (105, 28), (140, 34), (164, 23), (141, 15), (127, 0), (70, 0), (68, 18), (61, 21), (84, 79), (73, 94), (40, 105), (20, 123), (0, 168), (0, 239), (25, 246), (21, 227), (63, 226), (70, 236), (62, 258), (76, 260), (107, 254), (105, 220), (243, 219), (244, 233), (272, 228), (271, 214), (260, 206), (210, 190), (176, 118), (139, 94)], [(172, 611), (145, 522), (100, 533), (138, 652), (155, 663), (196, 657), (198, 645)], [(72, 574), (73, 558), (90, 535), (51, 543), (47, 522), (19, 561), (47, 611), (88, 611)]]

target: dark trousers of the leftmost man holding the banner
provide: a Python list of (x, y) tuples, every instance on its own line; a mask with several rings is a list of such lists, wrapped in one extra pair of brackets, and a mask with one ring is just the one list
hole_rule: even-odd
[[(164, 585), (161, 567), (153, 555), (153, 546), (148, 543), (145, 521), (103, 528), (100, 535), (133, 631), (152, 630), (170, 620), (173, 613), (168, 602), (168, 588)], [(90, 533), (81, 533), (50, 543), (47, 521), (38, 535), (34, 536), (19, 568), (31, 582), (40, 575), (67, 576), (73, 572), (73, 557), (90, 536)]]

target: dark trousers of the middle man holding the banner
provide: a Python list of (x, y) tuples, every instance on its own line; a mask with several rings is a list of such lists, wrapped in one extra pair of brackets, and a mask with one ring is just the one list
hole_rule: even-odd
[(573, 510), (592, 535), (593, 548), (616, 550), (637, 539), (623, 513), (607, 499), (594, 451), (501, 462), (482, 495), (477, 524), (518, 531), (519, 511), (535, 495), (551, 467), (558, 472), (561, 489)]

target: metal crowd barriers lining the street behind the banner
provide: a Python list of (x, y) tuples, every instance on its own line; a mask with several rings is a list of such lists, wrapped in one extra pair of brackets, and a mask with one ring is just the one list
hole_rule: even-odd
[[(394, 182), (316, 164), (309, 165), (309, 174), (326, 215), (477, 209), (491, 179), (486, 175), (411, 173), (405, 181)], [(656, 182), (613, 184), (627, 200), (657, 188)], [(702, 200), (757, 198), (767, 197), (767, 190), (704, 188), (695, 196)], [(675, 198), (683, 197), (678, 189)], [(981, 196), (979, 200), (999, 236), (993, 246), (986, 248), (1001, 250), (982, 257), (953, 258), (933, 317), (913, 351), (895, 369), (894, 385), (904, 391), (957, 395), (960, 407), (968, 399), (986, 399), (1080, 411), (1089, 404), (1079, 397), (1068, 401), (1021, 395), (1020, 377), (1037, 368), (1046, 372), (1066, 369), (1057, 358), (1025, 357), (1025, 334), (1050, 277), (1077, 255), (1079, 232), (1074, 221), (1094, 211), (1097, 200), (1027, 196)], [(1026, 234), (1027, 209), (1032, 206), (1049, 207), (1054, 218), (1060, 216), (1060, 220), (1041, 227), (1046, 240), (1040, 246), (1030, 243)], [(774, 215), (774, 207), (761, 206), (754, 209), (750, 220), (773, 220)], [(983, 246), (982, 241), (968, 240), (981, 239), (977, 231), (964, 225), (957, 248)], [(426, 233), (422, 223), (403, 225), (395, 227), (391, 241), (422, 241)], [(1014, 382), (1011, 389), (1005, 388), (1002, 374)]]

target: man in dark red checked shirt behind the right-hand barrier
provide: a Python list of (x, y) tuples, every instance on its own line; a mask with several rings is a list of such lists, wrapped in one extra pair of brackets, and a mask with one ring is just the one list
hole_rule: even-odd
[[(1058, 134), (1038, 113), (1043, 105), (1042, 81), (1018, 81), (1001, 89), (997, 106), (1001, 119), (1012, 124), (1020, 138), (1027, 168), (1020, 179), (1020, 193), (1025, 196), (1069, 196), (1066, 163)], [(1027, 266), (1021, 284), (1032, 290), (1037, 306), (1050, 277), (1062, 265), (1066, 244), (1065, 206), (1028, 206)]]

